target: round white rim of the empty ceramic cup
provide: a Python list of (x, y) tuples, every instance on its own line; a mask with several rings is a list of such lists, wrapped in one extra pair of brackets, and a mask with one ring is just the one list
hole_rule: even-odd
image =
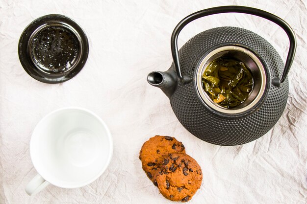
[[(109, 140), (109, 146), (110, 146), (110, 150), (108, 152), (107, 161), (106, 161), (105, 165), (103, 166), (103, 168), (100, 170), (100, 172), (96, 176), (94, 176), (90, 180), (87, 180), (87, 181), (84, 181), (84, 182), (78, 182), (76, 184), (70, 184), (70, 185), (60, 185), (60, 184), (54, 183), (53, 181), (49, 180), (48, 177), (46, 177), (46, 174), (44, 172), (41, 172), (41, 169), (37, 168), (37, 163), (36, 163), (35, 160), (33, 160), (34, 153), (33, 153), (33, 150), (32, 150), (32, 148), (33, 148), (33, 135), (34, 135), (36, 127), (39, 126), (41, 123), (43, 123), (52, 114), (57, 113), (57, 112), (61, 112), (61, 111), (64, 111), (64, 110), (78, 110), (78, 111), (83, 111), (83, 112), (89, 113), (92, 116), (94, 116), (102, 124), (104, 130), (106, 131), (106, 133), (107, 133), (106, 135), (107, 135), (107, 138)], [(31, 158), (32, 164), (33, 164), (35, 170), (37, 171), (37, 173), (44, 180), (48, 181), (49, 183), (51, 183), (54, 186), (61, 187), (61, 188), (79, 188), (79, 187), (88, 185), (88, 184), (96, 181), (103, 174), (103, 172), (107, 169), (107, 167), (109, 166), (109, 164), (111, 162), (111, 159), (112, 159), (112, 156), (113, 156), (113, 149), (114, 149), (114, 145), (113, 145), (113, 138), (112, 138), (111, 132), (110, 132), (109, 128), (107, 127), (107, 125), (105, 124), (105, 122), (101, 119), (101, 117), (99, 117), (96, 113), (94, 113), (94, 112), (92, 112), (92, 111), (90, 111), (88, 109), (81, 108), (81, 107), (74, 107), (74, 106), (56, 109), (56, 110), (52, 111), (51, 113), (48, 113), (47, 115), (45, 115), (36, 124), (35, 128), (33, 129), (32, 134), (31, 134), (31, 139), (30, 139), (30, 145), (29, 145), (30, 158)]]

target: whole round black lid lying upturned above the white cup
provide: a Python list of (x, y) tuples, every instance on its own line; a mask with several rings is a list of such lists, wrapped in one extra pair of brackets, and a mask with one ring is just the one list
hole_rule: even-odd
[(30, 23), (22, 33), (18, 54), (34, 79), (56, 84), (65, 82), (83, 68), (88, 57), (86, 34), (72, 19), (50, 14)]

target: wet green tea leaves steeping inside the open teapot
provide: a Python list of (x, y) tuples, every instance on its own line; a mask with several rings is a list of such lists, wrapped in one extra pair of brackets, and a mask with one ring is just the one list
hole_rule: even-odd
[(249, 97), (254, 79), (243, 62), (234, 58), (213, 60), (203, 74), (203, 88), (214, 103), (234, 108)]

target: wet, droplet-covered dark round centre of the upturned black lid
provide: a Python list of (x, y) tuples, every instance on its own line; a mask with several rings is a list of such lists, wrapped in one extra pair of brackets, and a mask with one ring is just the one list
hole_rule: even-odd
[(35, 66), (50, 74), (61, 74), (77, 62), (80, 45), (77, 36), (62, 26), (50, 26), (33, 37), (30, 46)]

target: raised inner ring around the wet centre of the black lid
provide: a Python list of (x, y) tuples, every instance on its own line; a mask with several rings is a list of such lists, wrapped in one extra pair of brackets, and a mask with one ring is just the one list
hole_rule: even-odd
[[(36, 36), (36, 34), (38, 34), (39, 32), (41, 32), (41, 31), (43, 31), (43, 30), (45, 30), (45, 29), (47, 29), (48, 27), (51, 27), (51, 26), (63, 27), (65, 29), (71, 31), (77, 37), (78, 43), (79, 43), (79, 54), (78, 54), (77, 59), (74, 61), (74, 63), (72, 64), (72, 66), (69, 69), (67, 69), (67, 70), (65, 70), (61, 73), (49, 73), (49, 72), (45, 71), (43, 68), (39, 67), (35, 63), (35, 59), (34, 59), (34, 56), (33, 56), (33, 53), (32, 53), (32, 41), (33, 41), (34, 37)], [(37, 27), (31, 33), (27, 47), (28, 47), (28, 53), (29, 53), (30, 59), (33, 62), (34, 66), (36, 68), (38, 68), (40, 71), (42, 71), (42, 72), (44, 72), (45, 74), (48, 74), (48, 75), (63, 75), (66, 72), (73, 70), (77, 66), (77, 64), (79, 63), (81, 56), (83, 54), (83, 50), (82, 50), (83, 49), (83, 42), (82, 42), (81, 37), (80, 37), (79, 33), (77, 32), (77, 30), (73, 26), (71, 26), (67, 23), (60, 22), (60, 21), (47, 22), (47, 23)]]

